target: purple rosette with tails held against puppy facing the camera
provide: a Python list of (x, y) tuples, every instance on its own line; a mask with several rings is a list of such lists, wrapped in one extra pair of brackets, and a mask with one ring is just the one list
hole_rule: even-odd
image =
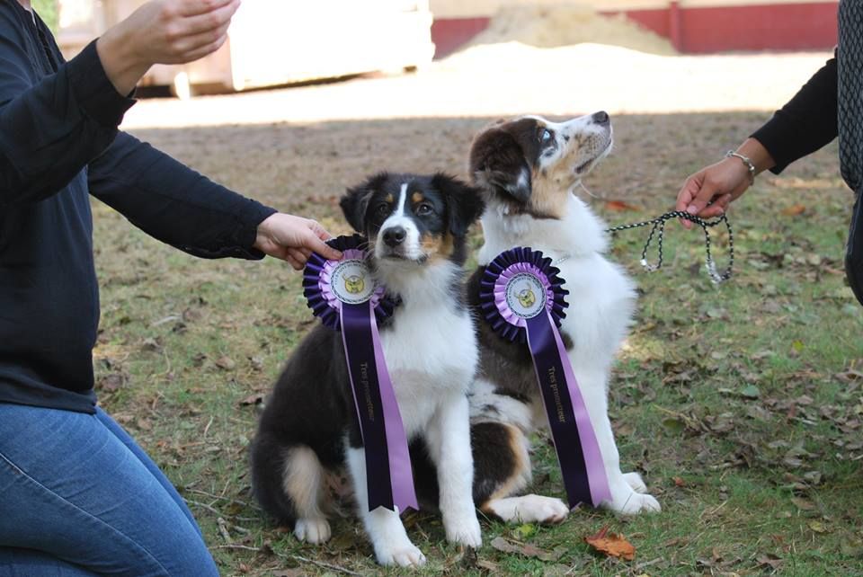
[(378, 333), (378, 321), (392, 315), (396, 304), (385, 288), (374, 284), (360, 235), (339, 236), (328, 244), (342, 251), (343, 259), (329, 261), (312, 253), (303, 273), (303, 293), (315, 315), (342, 332), (365, 449), (369, 510), (419, 510), (405, 427)]

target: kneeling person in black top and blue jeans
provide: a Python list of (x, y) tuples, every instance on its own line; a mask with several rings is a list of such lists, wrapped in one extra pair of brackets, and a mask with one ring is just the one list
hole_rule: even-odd
[(301, 269), (315, 221), (120, 132), (156, 63), (226, 40), (239, 0), (155, 0), (64, 61), (30, 0), (0, 0), (0, 574), (216, 575), (180, 495), (96, 404), (90, 196), (203, 258)]

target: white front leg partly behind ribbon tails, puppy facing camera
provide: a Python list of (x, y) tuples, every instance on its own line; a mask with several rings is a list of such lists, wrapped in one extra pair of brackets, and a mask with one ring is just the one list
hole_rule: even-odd
[(385, 507), (369, 511), (369, 490), (366, 484), (365, 449), (346, 448), (348, 469), (351, 473), (357, 500), (357, 513), (369, 534), (375, 556), (382, 565), (401, 567), (425, 564), (425, 555), (407, 537), (405, 526), (398, 513)]

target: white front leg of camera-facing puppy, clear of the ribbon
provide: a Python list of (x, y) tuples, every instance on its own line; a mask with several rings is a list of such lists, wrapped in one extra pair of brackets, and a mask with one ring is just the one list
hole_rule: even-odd
[(438, 407), (426, 440), (438, 470), (440, 512), (447, 540), (479, 547), (483, 537), (474, 507), (474, 457), (468, 413), (467, 395), (451, 395)]

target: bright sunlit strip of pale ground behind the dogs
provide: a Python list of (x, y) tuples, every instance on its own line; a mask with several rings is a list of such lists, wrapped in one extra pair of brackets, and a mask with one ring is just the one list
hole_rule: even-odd
[(827, 53), (658, 56), (601, 44), (541, 49), (505, 42), (471, 47), (416, 75), (140, 102), (127, 129), (273, 122), (770, 111)]

